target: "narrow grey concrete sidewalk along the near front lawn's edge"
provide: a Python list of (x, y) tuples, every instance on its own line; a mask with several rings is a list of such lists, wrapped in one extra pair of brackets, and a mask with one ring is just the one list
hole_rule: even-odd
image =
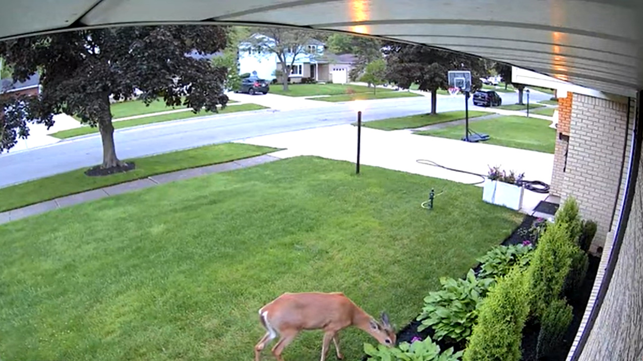
[(199, 177), (201, 175), (212, 174), (212, 173), (221, 173), (227, 172), (229, 170), (235, 170), (240, 168), (247, 168), (249, 166), (255, 166), (257, 164), (264, 164), (272, 161), (276, 161), (277, 157), (272, 155), (258, 155), (257, 157), (250, 157), (246, 159), (238, 159), (237, 161), (231, 161), (227, 163), (212, 164), (210, 166), (203, 166), (199, 168), (190, 168), (186, 170), (178, 170), (176, 172), (163, 173), (159, 175), (151, 175), (150, 177), (131, 180), (129, 182), (116, 184), (114, 186), (107, 186), (104, 188), (93, 189), (91, 191), (84, 191), (82, 193), (77, 193), (73, 195), (68, 195), (65, 197), (59, 197), (46, 202), (41, 202), (37, 204), (32, 204), (31, 206), (26, 206), (22, 208), (12, 209), (11, 211), (6, 211), (0, 213), (0, 224), (5, 224), (13, 220), (19, 220), (28, 216), (38, 215), (40, 213), (45, 213), (48, 211), (53, 211), (54, 209), (64, 208), (73, 206), (75, 204), (80, 204), (84, 202), (89, 202), (91, 200), (96, 200), (105, 197), (111, 197), (113, 195), (129, 193), (131, 191), (138, 191), (139, 189), (150, 188), (157, 186), (158, 184), (164, 184), (168, 182), (174, 182), (175, 180), (190, 179), (194, 177)]

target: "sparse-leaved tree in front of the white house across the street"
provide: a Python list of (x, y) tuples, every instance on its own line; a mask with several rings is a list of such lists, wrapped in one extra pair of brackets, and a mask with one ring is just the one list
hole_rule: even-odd
[(288, 78), (293, 65), (300, 55), (314, 57), (318, 51), (308, 46), (314, 42), (316, 32), (285, 28), (258, 28), (242, 44), (242, 51), (275, 54), (280, 64), (281, 82), (284, 91), (288, 90)]

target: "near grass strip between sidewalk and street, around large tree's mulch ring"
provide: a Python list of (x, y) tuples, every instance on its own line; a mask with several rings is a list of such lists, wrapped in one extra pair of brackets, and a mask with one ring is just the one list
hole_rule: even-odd
[[(172, 172), (208, 164), (225, 163), (235, 159), (274, 152), (275, 148), (267, 146), (224, 143), (201, 146), (188, 150), (179, 150), (150, 157), (127, 159), (136, 163), (136, 169), (125, 173), (116, 173), (104, 177), (87, 177), (87, 168), (52, 175), (51, 177), (32, 180), (0, 188), (0, 212), (44, 202), (90, 189), (111, 186), (128, 180), (141, 179), (150, 175)], [(118, 153), (118, 148), (116, 148)]]

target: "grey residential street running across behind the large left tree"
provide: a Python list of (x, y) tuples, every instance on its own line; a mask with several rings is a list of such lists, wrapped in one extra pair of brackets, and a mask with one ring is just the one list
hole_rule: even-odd
[[(500, 93), (500, 95), (503, 98), (503, 104), (516, 103), (518, 100), (517, 93)], [(254, 96), (253, 99), (260, 97), (260, 95)], [(534, 91), (530, 101), (535, 103), (549, 98), (549, 94)], [(297, 98), (289, 98), (289, 100), (293, 103), (300, 101)], [(259, 103), (259, 101), (255, 102)], [(318, 107), (257, 110), (123, 128), (114, 132), (116, 153), (121, 159), (127, 159), (247, 137), (349, 124), (356, 121), (358, 110), (363, 110), (364, 121), (430, 111), (430, 98), (426, 97), (348, 103), (316, 101), (316, 103), (323, 104), (319, 104)], [(439, 112), (464, 110), (464, 96), (440, 96), (437, 107)], [(469, 100), (469, 110), (475, 109), (479, 108), (474, 107)], [(330, 144), (334, 139), (328, 139), (328, 141)], [(101, 162), (102, 146), (98, 134), (60, 141), (53, 145), (22, 152), (2, 154), (0, 155), (0, 170), (2, 170), (0, 187), (93, 166)]]

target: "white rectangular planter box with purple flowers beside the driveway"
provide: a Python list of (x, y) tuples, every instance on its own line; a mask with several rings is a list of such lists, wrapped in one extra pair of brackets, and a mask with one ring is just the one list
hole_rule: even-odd
[(484, 182), (482, 191), (482, 200), (487, 203), (504, 206), (515, 211), (522, 207), (523, 194), (523, 177), (525, 173), (516, 175), (514, 171), (507, 174), (500, 167), (489, 167), (489, 174)]

